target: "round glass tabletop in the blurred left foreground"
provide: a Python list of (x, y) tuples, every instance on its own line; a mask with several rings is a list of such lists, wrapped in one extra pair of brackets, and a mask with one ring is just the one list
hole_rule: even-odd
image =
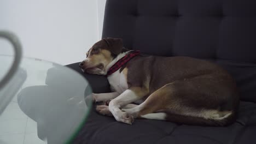
[[(0, 74), (7, 73), (13, 59), (0, 55)], [(25, 57), (7, 85), (0, 89), (0, 99), (16, 99), (19, 108), (37, 123), (38, 137), (45, 143), (70, 143), (90, 112), (91, 93), (88, 81), (76, 71)], [(2, 102), (0, 105), (4, 105)], [(8, 114), (5, 110), (0, 119)]]

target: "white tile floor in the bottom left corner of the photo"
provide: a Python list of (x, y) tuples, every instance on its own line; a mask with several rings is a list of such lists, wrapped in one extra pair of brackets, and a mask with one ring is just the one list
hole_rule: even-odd
[(1, 144), (46, 143), (37, 136), (37, 123), (22, 112), (14, 97), (0, 116)]

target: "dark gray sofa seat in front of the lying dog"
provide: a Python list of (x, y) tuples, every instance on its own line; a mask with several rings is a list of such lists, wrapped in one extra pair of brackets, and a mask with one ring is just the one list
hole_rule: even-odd
[(132, 125), (93, 110), (74, 143), (256, 143), (256, 104), (241, 101), (236, 122), (228, 127), (199, 127), (136, 119)]

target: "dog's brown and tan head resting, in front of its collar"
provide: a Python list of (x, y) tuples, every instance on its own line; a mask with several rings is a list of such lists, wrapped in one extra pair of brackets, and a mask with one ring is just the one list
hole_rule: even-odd
[(107, 65), (123, 50), (123, 40), (106, 38), (95, 43), (79, 67), (89, 74), (106, 75)]

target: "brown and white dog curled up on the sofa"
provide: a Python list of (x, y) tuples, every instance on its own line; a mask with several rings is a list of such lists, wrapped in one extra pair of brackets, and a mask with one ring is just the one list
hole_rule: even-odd
[[(111, 101), (97, 105), (97, 112), (127, 124), (133, 118), (212, 126), (235, 121), (236, 82), (218, 65), (191, 57), (132, 53), (136, 52), (125, 49), (121, 39), (106, 38), (94, 44), (79, 64), (84, 72), (107, 75), (113, 92), (92, 95), (97, 102)], [(109, 73), (113, 67), (116, 71)]]

